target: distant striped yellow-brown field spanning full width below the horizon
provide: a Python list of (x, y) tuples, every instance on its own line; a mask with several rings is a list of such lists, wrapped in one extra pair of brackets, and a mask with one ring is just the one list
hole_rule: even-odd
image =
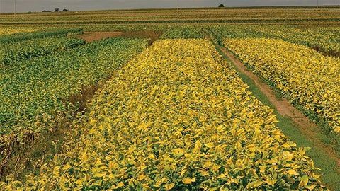
[(0, 25), (88, 25), (132, 23), (298, 23), (340, 21), (339, 8), (194, 8), (79, 11), (1, 15)]

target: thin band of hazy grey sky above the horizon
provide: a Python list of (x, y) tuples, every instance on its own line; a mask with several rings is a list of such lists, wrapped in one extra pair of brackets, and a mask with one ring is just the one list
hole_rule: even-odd
[[(14, 12), (15, 0), (0, 0), (1, 13)], [(180, 7), (225, 6), (285, 6), (316, 5), (317, 0), (179, 0)], [(340, 0), (319, 0), (320, 5), (339, 5)], [(175, 8), (176, 0), (16, 0), (17, 12), (51, 10), (59, 7), (70, 11), (127, 9), (127, 8)]]

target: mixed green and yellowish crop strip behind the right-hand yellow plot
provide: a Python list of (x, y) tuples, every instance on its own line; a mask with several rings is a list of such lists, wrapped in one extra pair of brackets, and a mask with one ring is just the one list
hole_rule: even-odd
[(221, 42), (223, 38), (278, 38), (307, 47), (321, 47), (324, 52), (340, 52), (340, 28), (296, 28), (292, 25), (227, 25), (207, 28), (210, 36)]

